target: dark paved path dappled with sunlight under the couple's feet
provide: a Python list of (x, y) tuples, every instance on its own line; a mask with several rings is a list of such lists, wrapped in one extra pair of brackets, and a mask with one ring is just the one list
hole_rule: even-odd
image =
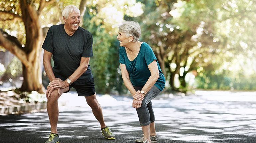
[[(60, 143), (135, 143), (143, 134), (131, 98), (98, 96), (116, 140), (104, 139), (83, 97), (64, 94), (59, 100)], [(152, 102), (158, 143), (256, 142), (256, 92), (196, 91)], [(44, 143), (49, 134), (46, 111), (0, 116), (0, 143)]]

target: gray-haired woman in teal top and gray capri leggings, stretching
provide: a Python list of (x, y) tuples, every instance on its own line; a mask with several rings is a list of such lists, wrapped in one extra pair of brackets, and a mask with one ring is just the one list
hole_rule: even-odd
[(136, 108), (144, 136), (136, 142), (155, 143), (155, 116), (151, 100), (165, 87), (165, 77), (152, 48), (138, 41), (141, 29), (138, 22), (124, 21), (118, 27), (116, 39), (120, 42), (119, 63), (125, 86), (133, 95), (132, 107)]

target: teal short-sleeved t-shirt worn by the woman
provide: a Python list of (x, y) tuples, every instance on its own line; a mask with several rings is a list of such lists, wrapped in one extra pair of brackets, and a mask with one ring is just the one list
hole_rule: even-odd
[[(133, 61), (128, 59), (125, 47), (119, 48), (119, 63), (125, 64), (127, 71), (130, 73), (131, 83), (135, 87), (143, 87), (146, 84), (151, 75), (148, 65), (154, 60), (157, 60), (157, 58), (152, 48), (145, 42), (141, 44), (140, 52)], [(157, 66), (159, 70), (159, 78), (155, 83), (155, 86), (162, 91), (165, 87), (165, 77), (158, 61)]]

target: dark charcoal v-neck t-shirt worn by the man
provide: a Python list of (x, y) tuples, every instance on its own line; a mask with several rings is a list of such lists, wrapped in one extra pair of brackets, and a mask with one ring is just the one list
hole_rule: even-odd
[[(64, 29), (64, 24), (53, 25), (49, 28), (42, 46), (48, 52), (53, 53), (54, 74), (68, 78), (79, 67), (81, 57), (92, 57), (92, 34), (78, 27), (72, 36)], [(74, 84), (88, 82), (92, 79), (91, 68), (88, 66)]]

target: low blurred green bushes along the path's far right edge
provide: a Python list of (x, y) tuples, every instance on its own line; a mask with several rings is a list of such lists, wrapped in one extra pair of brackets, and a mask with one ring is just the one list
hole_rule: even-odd
[(233, 74), (232, 71), (224, 69), (218, 71), (214, 65), (205, 69), (200, 70), (195, 77), (195, 86), (199, 89), (256, 90), (255, 74), (246, 75), (242, 71)]

